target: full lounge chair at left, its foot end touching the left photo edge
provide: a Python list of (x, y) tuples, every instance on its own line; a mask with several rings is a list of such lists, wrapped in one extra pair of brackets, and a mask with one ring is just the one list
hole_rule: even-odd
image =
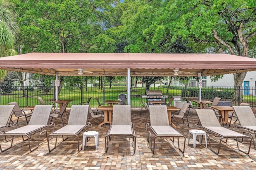
[[(12, 136), (12, 139), (11, 139), (12, 142), (10, 147), (6, 149), (2, 149), (0, 144), (0, 150), (4, 152), (5, 150), (10, 149), (12, 147), (13, 139), (15, 136), (22, 136), (23, 141), (28, 141), (30, 152), (37, 149), (40, 143), (40, 137), (42, 133), (46, 133), (46, 139), (48, 140), (47, 131), (44, 128), (50, 127), (53, 125), (53, 131), (54, 131), (54, 123), (51, 123), (50, 125), (48, 125), (48, 119), (49, 119), (51, 110), (52, 110), (51, 105), (36, 105), (28, 125), (0, 134), (0, 136), (4, 136), (4, 137)], [(32, 135), (38, 132), (40, 132), (38, 144), (36, 145), (36, 147), (31, 148), (30, 139)], [(27, 137), (27, 139), (24, 139), (24, 136)]]

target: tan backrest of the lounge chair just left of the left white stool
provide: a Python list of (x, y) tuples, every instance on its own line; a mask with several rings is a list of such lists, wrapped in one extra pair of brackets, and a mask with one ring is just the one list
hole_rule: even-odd
[(86, 125), (89, 105), (72, 105), (68, 125)]

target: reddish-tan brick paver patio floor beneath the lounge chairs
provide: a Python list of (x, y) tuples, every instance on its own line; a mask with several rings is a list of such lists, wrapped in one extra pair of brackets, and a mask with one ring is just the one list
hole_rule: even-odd
[[(209, 148), (200, 145), (197, 142), (196, 148), (193, 148), (192, 140), (188, 145), (188, 131), (194, 129), (194, 124), (198, 122), (197, 115), (190, 113), (188, 116), (191, 125), (188, 128), (183, 125), (180, 119), (174, 121), (177, 130), (186, 137), (186, 148), (184, 154), (178, 150), (176, 141), (174, 144), (166, 139), (158, 140), (156, 144), (155, 154), (152, 154), (149, 143), (146, 139), (145, 121), (148, 111), (143, 111), (140, 116), (140, 109), (132, 108), (132, 122), (136, 132), (137, 143), (136, 152), (133, 155), (131, 147), (131, 139), (114, 138), (110, 143), (108, 152), (105, 153), (105, 135), (109, 127), (98, 127), (102, 119), (90, 119), (92, 130), (99, 131), (99, 146), (95, 150), (94, 139), (87, 142), (84, 151), (78, 152), (77, 142), (62, 142), (62, 138), (58, 138), (58, 146), (52, 152), (48, 152), (48, 145), (45, 137), (38, 149), (30, 152), (28, 142), (22, 141), (22, 137), (15, 137), (14, 146), (5, 151), (0, 152), (0, 170), (6, 169), (79, 169), (79, 170), (162, 170), (162, 169), (255, 169), (256, 168), (256, 150), (253, 145), (249, 155), (240, 152), (236, 147), (236, 141), (229, 139), (227, 144), (223, 144), (220, 154), (214, 154)], [(65, 119), (65, 118), (64, 118)], [(54, 119), (56, 129), (62, 127), (60, 118)], [(66, 121), (66, 120), (65, 120)], [(23, 123), (23, 124), (22, 124)], [(18, 127), (25, 124), (24, 119), (20, 119)], [(226, 125), (226, 127), (228, 127)], [(47, 129), (48, 133), (52, 129)], [(241, 131), (239, 131), (241, 132)], [(36, 136), (38, 137), (38, 136)], [(37, 140), (36, 138), (33, 138)], [(121, 142), (117, 140), (121, 140)], [(217, 139), (217, 138), (213, 138)], [(4, 138), (1, 138), (2, 147), (5, 144)], [(36, 142), (36, 141), (35, 141)], [(62, 143), (60, 143), (62, 142)], [(212, 143), (216, 141), (212, 140)], [(10, 144), (10, 143), (8, 143)], [(54, 140), (50, 141), (53, 147)], [(80, 148), (82, 148), (82, 134), (80, 134)], [(214, 145), (213, 145), (214, 147)], [(242, 145), (242, 149), (248, 149), (248, 145)]]

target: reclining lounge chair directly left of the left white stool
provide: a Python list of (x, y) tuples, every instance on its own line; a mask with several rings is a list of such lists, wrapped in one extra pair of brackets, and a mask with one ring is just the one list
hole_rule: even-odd
[[(58, 129), (57, 131), (51, 133), (50, 136), (56, 136), (55, 140), (55, 146), (54, 148), (50, 149), (50, 144), (48, 140), (48, 150), (51, 152), (56, 148), (57, 145), (57, 138), (58, 136), (62, 136), (62, 140), (66, 141), (69, 136), (76, 137), (77, 139), (77, 145), (78, 145), (78, 152), (80, 152), (79, 149), (79, 134), (86, 129), (86, 127), (90, 126), (90, 131), (92, 130), (92, 124), (90, 122), (87, 122), (88, 117), (88, 108), (89, 105), (72, 105), (70, 109), (70, 115), (68, 119), (68, 124), (64, 127)], [(64, 136), (67, 136), (66, 139), (64, 139)]]

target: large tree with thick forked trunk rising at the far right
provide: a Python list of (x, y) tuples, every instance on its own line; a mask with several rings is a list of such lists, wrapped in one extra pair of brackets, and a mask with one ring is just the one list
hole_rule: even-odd
[[(175, 1), (170, 3), (170, 12), (176, 20), (174, 35), (190, 38), (196, 43), (208, 45), (206, 50), (218, 49), (219, 53), (230, 53), (250, 57), (249, 46), (255, 43), (256, 2), (246, 0)], [(177, 9), (182, 9), (177, 11)], [(178, 17), (179, 14), (179, 17)], [(174, 18), (174, 17), (173, 17)], [(174, 36), (175, 37), (175, 36)], [(246, 72), (234, 73), (234, 86), (242, 86)], [(237, 97), (237, 95), (234, 95)]]

